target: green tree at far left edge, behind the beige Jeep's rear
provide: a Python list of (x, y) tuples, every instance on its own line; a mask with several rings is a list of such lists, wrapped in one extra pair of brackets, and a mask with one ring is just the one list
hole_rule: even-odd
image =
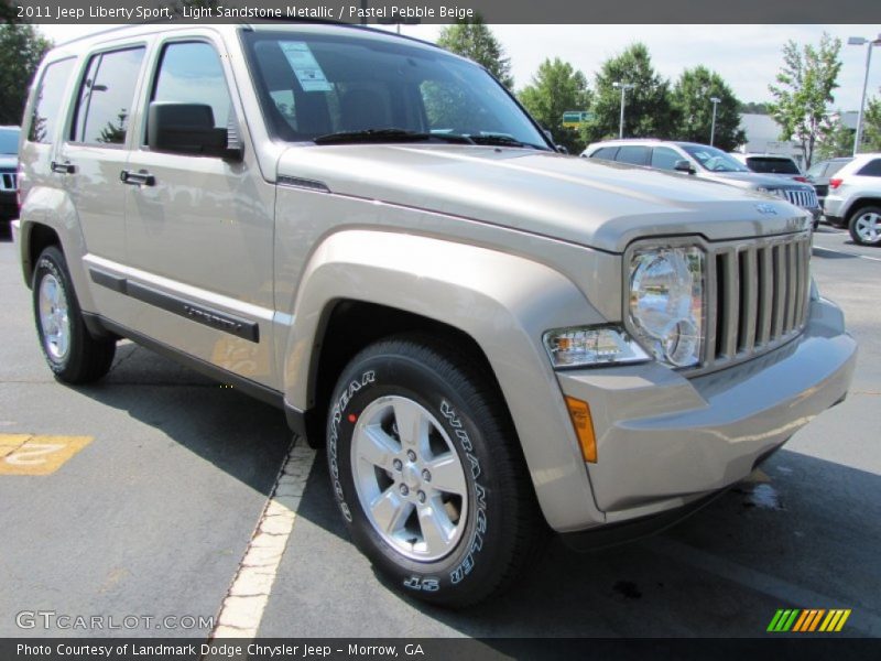
[(31, 80), (51, 46), (33, 25), (0, 25), (0, 124), (21, 123)]

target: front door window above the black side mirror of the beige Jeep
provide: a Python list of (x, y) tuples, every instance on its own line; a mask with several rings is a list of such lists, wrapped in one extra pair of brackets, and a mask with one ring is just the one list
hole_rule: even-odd
[(210, 44), (184, 42), (165, 46), (151, 100), (207, 104), (215, 128), (229, 126), (229, 89), (220, 57)]

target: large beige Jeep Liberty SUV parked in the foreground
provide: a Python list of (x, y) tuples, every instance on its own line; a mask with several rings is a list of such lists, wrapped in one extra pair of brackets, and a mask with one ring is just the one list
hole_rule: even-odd
[(434, 603), (512, 583), (547, 527), (589, 544), (705, 502), (853, 370), (804, 212), (556, 153), (487, 72), (384, 32), (59, 46), (21, 195), (58, 380), (128, 337), (278, 404), (358, 548)]

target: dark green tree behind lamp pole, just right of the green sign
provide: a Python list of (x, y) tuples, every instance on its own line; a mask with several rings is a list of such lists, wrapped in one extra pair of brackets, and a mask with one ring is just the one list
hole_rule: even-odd
[(621, 91), (613, 83), (634, 85), (624, 97), (624, 138), (670, 138), (674, 128), (670, 82), (652, 67), (645, 44), (637, 43), (602, 63), (595, 75), (594, 118), (585, 127), (588, 142), (618, 137)]

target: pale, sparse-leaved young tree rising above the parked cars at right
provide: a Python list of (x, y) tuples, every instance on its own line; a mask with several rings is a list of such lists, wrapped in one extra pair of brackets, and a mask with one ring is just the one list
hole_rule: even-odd
[(783, 127), (780, 137), (801, 143), (805, 167), (814, 162), (817, 142), (833, 130), (828, 106), (835, 101), (833, 90), (838, 87), (840, 51), (841, 40), (825, 32), (818, 46), (788, 41), (783, 46), (776, 85), (768, 86), (774, 96), (768, 109)]

